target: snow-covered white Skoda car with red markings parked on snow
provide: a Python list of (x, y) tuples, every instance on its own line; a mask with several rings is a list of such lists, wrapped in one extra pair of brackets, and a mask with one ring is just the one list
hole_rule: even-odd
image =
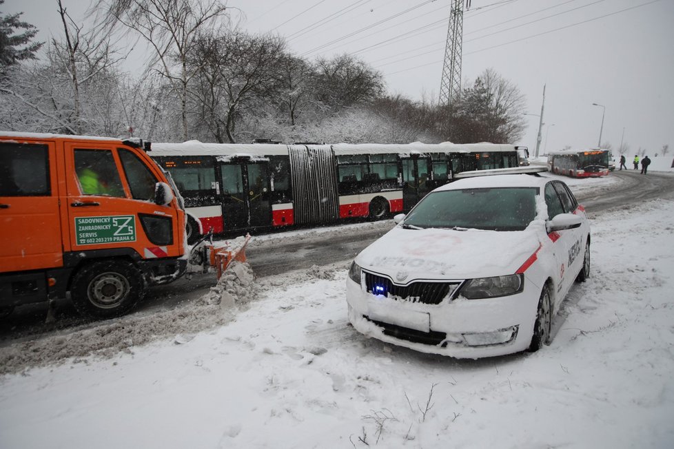
[(589, 276), (584, 208), (551, 176), (487, 174), (433, 190), (358, 254), (346, 286), (357, 331), (461, 358), (549, 344), (566, 293)]

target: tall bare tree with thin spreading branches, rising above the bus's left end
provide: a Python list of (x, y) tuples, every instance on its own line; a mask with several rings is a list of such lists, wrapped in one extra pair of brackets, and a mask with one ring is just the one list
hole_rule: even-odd
[(178, 94), (183, 140), (187, 140), (188, 85), (198, 70), (187, 64), (187, 58), (200, 34), (223, 26), (229, 8), (221, 0), (112, 0), (110, 5), (98, 0), (96, 6), (107, 8), (108, 18), (139, 34), (154, 50), (150, 65)]

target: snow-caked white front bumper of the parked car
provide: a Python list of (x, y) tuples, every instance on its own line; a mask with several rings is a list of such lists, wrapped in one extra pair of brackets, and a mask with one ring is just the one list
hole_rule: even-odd
[(422, 304), (367, 293), (347, 279), (349, 322), (360, 333), (424, 353), (493, 357), (529, 348), (540, 289), (524, 278), (516, 295), (482, 300), (448, 297)]

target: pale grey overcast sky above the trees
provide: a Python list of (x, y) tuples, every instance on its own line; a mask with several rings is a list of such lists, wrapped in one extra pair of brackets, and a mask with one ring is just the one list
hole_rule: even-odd
[[(63, 0), (82, 17), (82, 0)], [(250, 32), (278, 33), (298, 56), (351, 53), (384, 75), (391, 94), (437, 98), (450, 0), (229, 0)], [(465, 2), (464, 2), (465, 3)], [(674, 144), (673, 0), (471, 0), (464, 10), (462, 79), (487, 68), (517, 85), (540, 114), (540, 153), (598, 144), (633, 154)], [(46, 40), (60, 33), (57, 0), (6, 0)], [(538, 117), (519, 142), (535, 148)], [(553, 125), (554, 124), (554, 125)], [(673, 148), (674, 151), (674, 148)], [(533, 151), (532, 151), (533, 153)]]

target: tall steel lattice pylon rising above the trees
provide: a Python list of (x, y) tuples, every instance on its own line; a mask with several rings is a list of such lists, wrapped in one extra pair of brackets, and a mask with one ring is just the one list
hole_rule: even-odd
[[(445, 64), (440, 82), (440, 105), (450, 106), (461, 96), (461, 58), (463, 46), (463, 1), (449, 0), (451, 14), (445, 44)], [(466, 0), (470, 8), (471, 0)]]

